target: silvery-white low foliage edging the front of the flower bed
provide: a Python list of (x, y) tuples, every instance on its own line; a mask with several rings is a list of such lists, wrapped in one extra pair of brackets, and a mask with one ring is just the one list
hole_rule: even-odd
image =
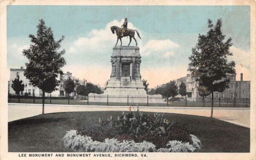
[(201, 141), (190, 135), (193, 145), (181, 141), (169, 141), (167, 148), (156, 149), (156, 146), (147, 141), (136, 143), (134, 140), (117, 140), (106, 138), (103, 142), (92, 140), (91, 137), (77, 135), (76, 130), (70, 130), (64, 136), (64, 147), (80, 152), (195, 152), (201, 149)]

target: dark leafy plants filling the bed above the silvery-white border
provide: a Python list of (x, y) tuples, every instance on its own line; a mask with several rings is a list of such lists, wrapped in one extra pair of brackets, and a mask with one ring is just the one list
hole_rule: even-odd
[(137, 112), (128, 112), (113, 120), (99, 118), (100, 126), (78, 129), (77, 134), (90, 136), (92, 140), (103, 142), (106, 138), (117, 140), (134, 140), (137, 143), (148, 141), (157, 149), (166, 148), (170, 140), (192, 144), (192, 139), (185, 124), (170, 122), (163, 118), (164, 114), (154, 113), (154, 116), (143, 115), (137, 106)]

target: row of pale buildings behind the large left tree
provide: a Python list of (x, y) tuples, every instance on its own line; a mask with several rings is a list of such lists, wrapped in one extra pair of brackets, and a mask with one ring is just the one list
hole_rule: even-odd
[[(12, 81), (15, 78), (19, 78), (23, 81), (24, 84), (24, 91), (20, 92), (20, 95), (25, 95), (25, 93), (28, 93), (29, 96), (42, 96), (42, 90), (40, 90), (38, 87), (33, 86), (28, 79), (24, 76), (25, 69), (23, 67), (20, 67), (20, 69), (17, 68), (11, 68), (10, 69), (10, 81), (8, 81), (8, 94), (16, 94), (15, 91), (12, 89)], [(75, 88), (71, 96), (76, 96), (76, 88), (81, 85), (85, 85), (87, 81), (85, 79), (79, 80), (76, 77), (72, 76), (72, 73), (67, 72), (63, 75), (59, 75), (57, 79), (60, 79), (60, 85), (57, 87), (58, 90), (55, 90), (51, 93), (52, 96), (65, 96), (65, 90), (64, 90), (64, 81), (67, 80), (67, 78), (70, 77), (73, 79), (75, 83)], [(49, 93), (46, 93), (45, 96), (50, 96)]]

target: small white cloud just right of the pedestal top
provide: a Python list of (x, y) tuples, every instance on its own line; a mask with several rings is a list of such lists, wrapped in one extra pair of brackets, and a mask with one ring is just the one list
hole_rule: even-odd
[[(143, 56), (148, 56), (151, 54), (163, 54), (167, 56), (167, 52), (171, 53), (170, 51), (174, 48), (178, 48), (178, 45), (175, 42), (172, 42), (170, 39), (165, 40), (149, 40), (145, 46), (141, 48), (141, 54)], [(174, 53), (173, 53), (174, 54)], [(172, 54), (172, 55), (173, 55)], [(171, 54), (169, 54), (171, 55)]]

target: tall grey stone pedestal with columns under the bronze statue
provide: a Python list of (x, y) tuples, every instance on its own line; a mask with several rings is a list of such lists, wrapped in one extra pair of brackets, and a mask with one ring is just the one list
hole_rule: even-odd
[(140, 48), (114, 46), (112, 72), (105, 85), (106, 95), (147, 95), (140, 75)]

